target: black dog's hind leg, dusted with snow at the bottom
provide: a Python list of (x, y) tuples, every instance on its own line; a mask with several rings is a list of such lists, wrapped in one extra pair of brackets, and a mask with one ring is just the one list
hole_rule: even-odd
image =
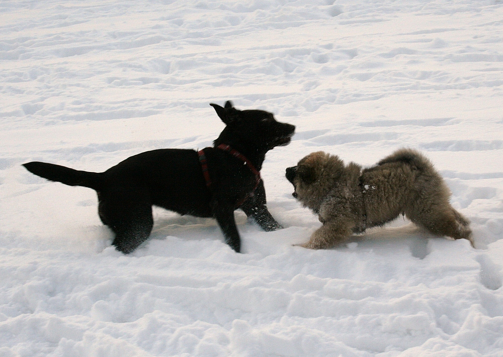
[[(143, 196), (144, 194), (144, 196)], [(100, 195), (103, 196), (103, 195)], [(99, 215), (115, 233), (112, 245), (129, 254), (148, 239), (153, 226), (152, 206), (143, 192), (114, 192), (100, 197)]]

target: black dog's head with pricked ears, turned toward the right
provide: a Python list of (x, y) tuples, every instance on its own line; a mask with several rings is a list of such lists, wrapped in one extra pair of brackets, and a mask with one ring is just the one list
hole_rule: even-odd
[(210, 106), (226, 125), (215, 144), (225, 143), (265, 154), (276, 146), (288, 145), (295, 132), (294, 125), (277, 122), (272, 113), (263, 110), (237, 110), (230, 101), (225, 107), (213, 103)]

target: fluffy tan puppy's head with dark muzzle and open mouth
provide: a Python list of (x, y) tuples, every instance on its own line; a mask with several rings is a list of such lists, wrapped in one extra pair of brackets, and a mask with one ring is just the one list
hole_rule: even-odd
[(303, 157), (297, 166), (288, 167), (285, 175), (294, 187), (293, 197), (317, 212), (343, 169), (344, 163), (337, 156), (317, 151)]

